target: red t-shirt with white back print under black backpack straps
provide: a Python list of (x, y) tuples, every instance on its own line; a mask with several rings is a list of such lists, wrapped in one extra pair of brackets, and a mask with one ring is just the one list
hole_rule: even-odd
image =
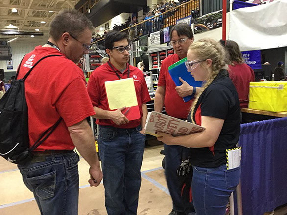
[(74, 144), (68, 127), (95, 115), (83, 71), (54, 48), (37, 46), (26, 54), (18, 79), (39, 59), (51, 54), (62, 56), (42, 60), (25, 81), (30, 146), (60, 117), (63, 120), (35, 151), (72, 150)]

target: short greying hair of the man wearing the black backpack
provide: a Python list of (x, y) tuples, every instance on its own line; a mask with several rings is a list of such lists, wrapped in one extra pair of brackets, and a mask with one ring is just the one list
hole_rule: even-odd
[(84, 30), (94, 30), (92, 22), (77, 10), (61, 10), (50, 23), (50, 36), (59, 40), (63, 33), (68, 32), (74, 37), (80, 36)]

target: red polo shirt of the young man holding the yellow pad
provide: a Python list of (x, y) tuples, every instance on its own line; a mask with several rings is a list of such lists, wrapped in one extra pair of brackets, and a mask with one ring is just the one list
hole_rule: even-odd
[[(112, 64), (111, 64), (112, 65)], [(144, 79), (144, 74), (137, 67), (129, 65), (130, 75), (129, 77), (134, 79), (136, 94), (138, 99), (138, 106), (140, 108), (141, 118), (143, 116), (142, 104), (150, 101), (150, 96), (146, 86), (146, 81)], [(113, 70), (114, 69), (114, 70)], [(90, 76), (88, 82), (88, 93), (91, 98), (93, 106), (101, 108), (103, 110), (109, 110), (108, 101), (105, 91), (105, 81), (114, 81), (119, 80), (115, 71), (118, 73), (121, 79), (128, 78), (128, 64), (126, 70), (121, 73), (115, 67), (113, 69), (109, 66), (108, 63), (101, 65), (96, 68), (92, 75)], [(119, 91), (120, 93), (120, 91)], [(109, 119), (97, 119), (96, 124), (114, 126), (117, 128), (135, 128), (140, 125), (141, 118), (136, 120), (131, 120), (128, 124), (117, 126), (112, 120)]]

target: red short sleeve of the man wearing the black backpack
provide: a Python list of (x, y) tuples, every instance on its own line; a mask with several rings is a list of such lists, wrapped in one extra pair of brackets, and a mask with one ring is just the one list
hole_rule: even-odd
[(66, 87), (56, 102), (56, 108), (67, 127), (95, 115), (82, 78), (76, 78)]

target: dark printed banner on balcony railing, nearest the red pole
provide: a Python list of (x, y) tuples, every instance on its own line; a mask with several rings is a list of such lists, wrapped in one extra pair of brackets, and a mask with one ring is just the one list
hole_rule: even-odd
[(194, 34), (222, 27), (222, 10), (194, 19)]

